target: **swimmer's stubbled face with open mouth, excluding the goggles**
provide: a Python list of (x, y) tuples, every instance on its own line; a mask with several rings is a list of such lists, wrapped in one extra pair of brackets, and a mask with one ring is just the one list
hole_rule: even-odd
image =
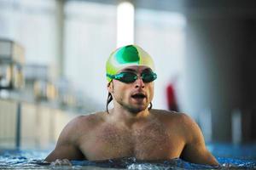
[(137, 74), (135, 82), (125, 83), (118, 80), (110, 82), (108, 92), (113, 96), (114, 106), (121, 106), (127, 111), (137, 113), (148, 108), (154, 96), (154, 82), (143, 82), (141, 74), (151, 71), (147, 66), (128, 66), (119, 71), (129, 71)]

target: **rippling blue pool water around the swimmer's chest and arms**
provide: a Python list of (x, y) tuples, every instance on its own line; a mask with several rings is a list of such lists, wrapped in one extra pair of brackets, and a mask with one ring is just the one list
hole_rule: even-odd
[[(256, 144), (207, 144), (222, 168), (256, 169)], [(44, 162), (49, 150), (0, 150), (0, 169), (195, 169), (214, 168), (181, 159), (137, 161), (133, 157), (108, 161), (72, 161), (72, 167), (50, 166)]]

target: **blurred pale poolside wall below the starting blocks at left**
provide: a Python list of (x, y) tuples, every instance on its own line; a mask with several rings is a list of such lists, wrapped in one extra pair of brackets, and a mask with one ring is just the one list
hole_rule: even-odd
[(47, 149), (55, 144), (62, 128), (75, 116), (78, 114), (21, 103), (20, 128), (17, 128), (18, 102), (0, 99), (0, 148), (13, 149), (20, 143), (22, 149)]

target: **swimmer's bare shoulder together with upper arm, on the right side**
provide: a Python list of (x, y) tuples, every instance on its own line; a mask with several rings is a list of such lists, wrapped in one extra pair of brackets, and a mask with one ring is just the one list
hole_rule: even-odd
[(180, 144), (183, 142), (184, 147), (180, 156), (183, 160), (218, 165), (218, 161), (207, 150), (200, 127), (190, 116), (175, 111), (153, 110), (150, 112), (160, 122), (164, 122), (162, 124), (168, 127), (176, 139), (180, 139)]

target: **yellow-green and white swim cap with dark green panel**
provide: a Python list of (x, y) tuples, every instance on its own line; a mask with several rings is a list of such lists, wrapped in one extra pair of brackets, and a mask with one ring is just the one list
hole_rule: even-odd
[[(154, 62), (150, 55), (143, 50), (143, 48), (137, 45), (127, 45), (116, 49), (110, 54), (106, 70), (107, 74), (115, 75), (120, 70), (131, 65), (144, 65), (148, 66), (152, 71), (154, 71)], [(107, 77), (108, 82), (112, 79)]]

